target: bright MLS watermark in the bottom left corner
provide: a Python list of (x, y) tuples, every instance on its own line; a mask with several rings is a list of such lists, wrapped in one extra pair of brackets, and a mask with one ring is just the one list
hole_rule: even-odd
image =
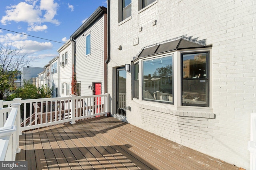
[(0, 161), (0, 170), (28, 170), (28, 161)]

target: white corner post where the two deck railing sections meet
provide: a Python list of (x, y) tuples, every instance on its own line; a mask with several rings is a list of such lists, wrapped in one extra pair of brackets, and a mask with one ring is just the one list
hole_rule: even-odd
[[(21, 100), (21, 99), (20, 99)], [(14, 104), (11, 104), (11, 107), (15, 107), (15, 108), (18, 108), (18, 112), (17, 112), (17, 116), (16, 116), (16, 133), (14, 133), (14, 135), (15, 135), (15, 141), (13, 141), (13, 142), (15, 142), (15, 153), (17, 154), (17, 153), (20, 153), (20, 145), (19, 145), (19, 143), (20, 143), (20, 134), (21, 134), (21, 132), (20, 132), (20, 103), (14, 103)]]

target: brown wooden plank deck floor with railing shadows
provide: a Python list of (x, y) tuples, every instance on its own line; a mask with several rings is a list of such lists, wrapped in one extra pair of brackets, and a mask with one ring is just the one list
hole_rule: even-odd
[(16, 160), (28, 169), (236, 170), (113, 117), (55, 125), (20, 136)]

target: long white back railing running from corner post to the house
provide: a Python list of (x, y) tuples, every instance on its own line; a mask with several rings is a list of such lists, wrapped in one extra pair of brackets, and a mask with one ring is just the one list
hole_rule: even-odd
[[(105, 115), (110, 112), (109, 94), (93, 96), (75, 96), (64, 98), (42, 98), (14, 101), (1, 101), (4, 105), (20, 103), (22, 114), (20, 131), (56, 125), (75, 123), (76, 120)], [(4, 117), (3, 119), (4, 120)], [(4, 121), (3, 121), (4, 122)], [(1, 121), (0, 121), (1, 125)]]

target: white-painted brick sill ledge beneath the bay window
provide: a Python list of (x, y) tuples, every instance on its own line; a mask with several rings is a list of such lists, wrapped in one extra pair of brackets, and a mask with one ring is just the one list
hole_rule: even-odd
[(170, 104), (159, 104), (148, 101), (132, 100), (141, 109), (157, 111), (176, 115), (180, 117), (198, 117), (206, 119), (214, 119), (215, 114), (213, 109), (209, 107), (196, 107), (196, 106), (173, 106)]

